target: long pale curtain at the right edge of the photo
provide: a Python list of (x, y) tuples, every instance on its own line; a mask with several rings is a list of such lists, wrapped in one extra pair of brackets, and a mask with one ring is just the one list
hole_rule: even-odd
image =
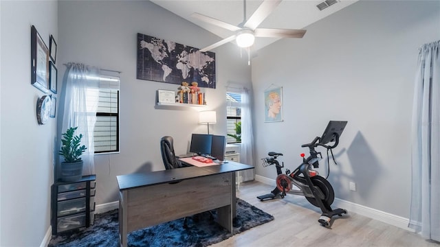
[(440, 241), (440, 40), (419, 50), (412, 107), (409, 227)]

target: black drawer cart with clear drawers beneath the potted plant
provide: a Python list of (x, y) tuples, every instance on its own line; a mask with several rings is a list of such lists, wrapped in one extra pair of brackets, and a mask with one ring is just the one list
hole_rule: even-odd
[(93, 224), (95, 186), (96, 175), (52, 185), (52, 235)]

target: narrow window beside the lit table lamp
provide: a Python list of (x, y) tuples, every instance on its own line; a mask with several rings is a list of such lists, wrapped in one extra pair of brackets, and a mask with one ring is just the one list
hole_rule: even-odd
[(241, 94), (226, 93), (226, 128), (228, 143), (241, 143)]

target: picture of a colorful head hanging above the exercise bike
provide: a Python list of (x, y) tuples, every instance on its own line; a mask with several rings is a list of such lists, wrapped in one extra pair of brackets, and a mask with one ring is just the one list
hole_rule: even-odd
[(283, 121), (283, 88), (267, 89), (264, 92), (265, 122)]

